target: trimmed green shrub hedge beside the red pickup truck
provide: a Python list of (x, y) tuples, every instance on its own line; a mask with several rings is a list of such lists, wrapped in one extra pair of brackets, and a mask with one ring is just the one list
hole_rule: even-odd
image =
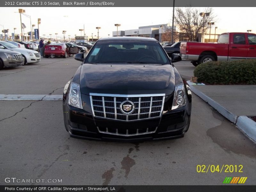
[(256, 84), (256, 60), (202, 63), (194, 70), (194, 76), (206, 84)]

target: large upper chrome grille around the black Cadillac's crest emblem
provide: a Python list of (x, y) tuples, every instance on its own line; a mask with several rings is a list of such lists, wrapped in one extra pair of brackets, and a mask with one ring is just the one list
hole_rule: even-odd
[[(90, 93), (93, 116), (119, 121), (136, 121), (160, 117), (164, 107), (165, 94), (116, 95)], [(131, 101), (131, 114), (121, 111), (121, 103)], [(125, 103), (124, 103), (125, 104)]]

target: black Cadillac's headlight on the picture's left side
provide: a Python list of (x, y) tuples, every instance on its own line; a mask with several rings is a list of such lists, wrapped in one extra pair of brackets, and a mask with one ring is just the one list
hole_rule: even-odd
[(72, 82), (68, 93), (68, 105), (82, 109), (80, 85)]

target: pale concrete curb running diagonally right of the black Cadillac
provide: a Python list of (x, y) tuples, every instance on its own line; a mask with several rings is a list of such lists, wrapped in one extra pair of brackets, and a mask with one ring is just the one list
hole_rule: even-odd
[[(221, 115), (226, 117), (229, 121), (236, 124), (236, 126), (247, 136), (249, 137), (254, 143), (256, 143), (256, 122), (250, 119), (247, 116), (236, 116), (235, 114), (228, 111), (226, 108), (221, 106), (216, 101), (212, 100), (210, 97), (205, 95), (203, 92), (196, 89), (193, 85), (194, 83), (187, 81), (190, 85), (190, 89), (194, 92), (197, 96), (211, 105), (214, 109), (216, 109)], [(196, 85), (200, 86), (200, 85)]]

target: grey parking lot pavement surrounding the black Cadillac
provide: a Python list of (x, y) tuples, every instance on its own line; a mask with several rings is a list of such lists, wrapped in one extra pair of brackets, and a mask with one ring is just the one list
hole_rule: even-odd
[[(0, 94), (61, 95), (80, 64), (74, 57), (42, 58), (1, 70)], [(189, 61), (175, 66), (185, 79), (193, 76)], [(61, 101), (2, 100), (0, 185), (31, 184), (5, 183), (6, 177), (61, 179), (60, 185), (221, 185), (226, 177), (248, 177), (246, 184), (255, 184), (256, 145), (195, 94), (192, 99), (184, 138), (140, 143), (70, 138)], [(237, 170), (198, 173), (197, 165)]]

